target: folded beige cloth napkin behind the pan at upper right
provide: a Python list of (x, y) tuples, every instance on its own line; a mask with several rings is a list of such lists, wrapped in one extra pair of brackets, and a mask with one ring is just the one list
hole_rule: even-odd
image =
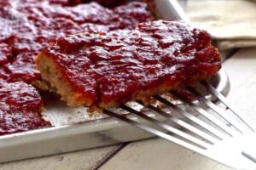
[(207, 30), (221, 50), (256, 47), (256, 2), (252, 0), (189, 0), (194, 26)]

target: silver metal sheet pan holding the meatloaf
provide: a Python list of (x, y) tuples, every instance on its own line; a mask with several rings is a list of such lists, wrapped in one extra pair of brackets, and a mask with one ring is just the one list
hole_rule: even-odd
[[(155, 3), (161, 19), (189, 22), (175, 0), (155, 0)], [(222, 94), (229, 93), (230, 81), (223, 70), (212, 77), (211, 82)], [(133, 106), (137, 107), (137, 105)], [(150, 112), (147, 114), (156, 116)], [(71, 109), (61, 103), (52, 103), (46, 105), (44, 117), (49, 119), (55, 127), (0, 137), (0, 162), (48, 156), (152, 137), (151, 134), (107, 116), (91, 117), (84, 107)]]

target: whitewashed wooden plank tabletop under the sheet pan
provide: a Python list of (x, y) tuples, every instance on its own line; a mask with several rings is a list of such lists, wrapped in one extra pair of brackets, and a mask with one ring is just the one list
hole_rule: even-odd
[[(223, 64), (231, 82), (231, 103), (256, 123), (256, 48), (236, 51)], [(0, 164), (1, 170), (227, 170), (192, 151), (165, 139), (148, 139), (57, 156)]]

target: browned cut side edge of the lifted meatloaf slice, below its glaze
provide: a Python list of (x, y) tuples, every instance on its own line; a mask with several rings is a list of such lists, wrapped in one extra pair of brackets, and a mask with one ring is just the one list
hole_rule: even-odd
[[(209, 47), (212, 46), (210, 45)], [(182, 88), (186, 85), (193, 85), (195, 82), (200, 82), (201, 80), (207, 80), (213, 76), (213, 72), (216, 73), (220, 69), (220, 66), (216, 66), (212, 71), (200, 71), (197, 75), (183, 77), (181, 79), (186, 79), (186, 81), (175, 82), (172, 86), (169, 86), (168, 81), (166, 81), (154, 88), (148, 88), (147, 90), (140, 91), (137, 90), (131, 94), (131, 98), (129, 99), (113, 99), (108, 102), (100, 101), (100, 103), (94, 103), (93, 99), (90, 99), (90, 97), (88, 98), (86, 95), (81, 94), (72, 88), (71, 84), (67, 81), (67, 78), (63, 77), (61, 69), (58, 68), (54, 59), (51, 59), (44, 53), (41, 53), (38, 54), (36, 63), (38, 65), (38, 70), (41, 71), (43, 79), (49, 82), (51, 89), (54, 89), (55, 93), (60, 94), (61, 99), (66, 101), (68, 106), (75, 107), (84, 105), (90, 107), (90, 111), (102, 111), (104, 108), (116, 108), (119, 107), (120, 104), (124, 104), (131, 100), (142, 100), (143, 103), (147, 104), (148, 99), (156, 94), (164, 94), (169, 90), (176, 90), (177, 88)]]

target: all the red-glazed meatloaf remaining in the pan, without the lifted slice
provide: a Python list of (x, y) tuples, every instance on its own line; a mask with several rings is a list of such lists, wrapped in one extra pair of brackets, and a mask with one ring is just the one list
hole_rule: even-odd
[(34, 63), (49, 42), (79, 31), (125, 34), (153, 20), (146, 3), (110, 9), (98, 3), (72, 5), (75, 2), (0, 1), (0, 135), (50, 126), (41, 116), (38, 91), (43, 83)]

